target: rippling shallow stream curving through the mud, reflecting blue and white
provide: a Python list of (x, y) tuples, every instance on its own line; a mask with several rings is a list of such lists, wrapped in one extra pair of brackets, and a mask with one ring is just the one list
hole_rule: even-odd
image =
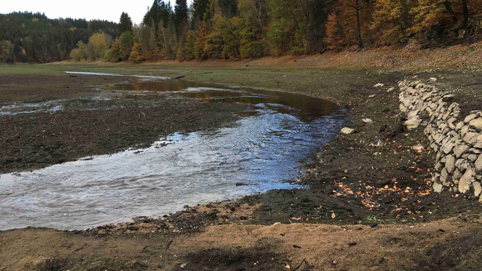
[[(174, 133), (146, 149), (1, 175), (0, 229), (84, 229), (141, 215), (161, 216), (184, 205), (293, 188), (283, 181), (296, 179), (301, 161), (344, 121), (344, 113), (325, 100), (180, 80), (133, 78), (82, 99), (54, 104), (56, 110), (97, 110), (127, 101), (148, 107), (165, 99), (201, 99), (249, 103), (252, 110), (240, 112), (240, 120), (216, 131)], [(16, 106), (16, 113), (22, 111), (22, 105)]]

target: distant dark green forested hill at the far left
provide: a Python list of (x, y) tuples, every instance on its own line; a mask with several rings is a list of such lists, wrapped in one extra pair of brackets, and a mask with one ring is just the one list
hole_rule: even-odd
[(118, 36), (116, 23), (83, 19), (49, 19), (44, 14), (0, 14), (0, 62), (66, 60), (79, 41), (95, 33)]

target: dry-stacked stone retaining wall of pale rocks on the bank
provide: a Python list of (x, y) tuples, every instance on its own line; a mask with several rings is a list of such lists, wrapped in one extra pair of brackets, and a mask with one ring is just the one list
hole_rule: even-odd
[(482, 111), (461, 116), (454, 95), (428, 83), (404, 80), (399, 86), (406, 126), (426, 125), (435, 160), (433, 190), (467, 194), (482, 202)]

